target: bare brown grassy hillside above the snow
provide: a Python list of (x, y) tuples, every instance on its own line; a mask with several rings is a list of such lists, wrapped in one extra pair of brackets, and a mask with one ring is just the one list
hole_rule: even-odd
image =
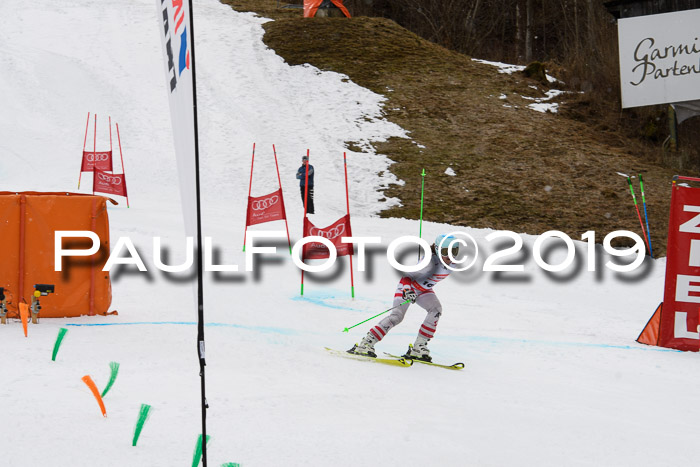
[[(643, 174), (654, 256), (665, 254), (674, 171), (652, 162), (638, 140), (567, 117), (566, 103), (555, 114), (527, 108), (532, 101), (522, 96), (544, 97), (542, 83), (498, 73), (391, 20), (304, 19), (300, 9), (277, 8), (276, 0), (222, 1), (275, 19), (265, 24), (264, 41), (290, 65), (346, 74), (388, 98), (386, 118), (410, 139), (376, 145), (406, 182), (386, 190), (403, 206), (382, 216), (418, 219), (425, 168), (426, 220), (530, 234), (561, 230), (573, 239), (594, 230), (601, 242), (614, 230), (641, 235), (618, 173), (635, 176), (640, 205), (636, 175)], [(448, 167), (456, 176), (445, 174)]]

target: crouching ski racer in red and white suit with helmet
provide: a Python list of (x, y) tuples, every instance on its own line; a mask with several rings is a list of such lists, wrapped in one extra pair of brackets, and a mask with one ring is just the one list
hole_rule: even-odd
[[(439, 247), (441, 248), (438, 252)], [(433, 287), (452, 272), (451, 269), (445, 266), (451, 262), (449, 248), (452, 249), (452, 258), (456, 257), (459, 250), (458, 242), (455, 242), (452, 236), (439, 235), (431, 246), (432, 255), (428, 265), (419, 271), (407, 273), (399, 281), (394, 293), (395, 309), (389, 316), (381, 320), (379, 324), (372, 327), (362, 341), (348, 350), (348, 352), (376, 357), (374, 344), (382, 340), (394, 326), (403, 321), (408, 307), (416, 303), (425, 309), (428, 314), (418, 331), (415, 343), (409, 345), (404, 357), (427, 362), (431, 361), (428, 341), (435, 335), (435, 329), (442, 314), (442, 305), (437, 295), (435, 295)], [(407, 300), (408, 302), (404, 303)]]

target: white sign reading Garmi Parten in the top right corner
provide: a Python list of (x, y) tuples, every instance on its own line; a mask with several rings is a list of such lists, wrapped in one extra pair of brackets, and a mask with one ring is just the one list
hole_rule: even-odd
[(700, 99), (700, 9), (618, 20), (622, 107)]

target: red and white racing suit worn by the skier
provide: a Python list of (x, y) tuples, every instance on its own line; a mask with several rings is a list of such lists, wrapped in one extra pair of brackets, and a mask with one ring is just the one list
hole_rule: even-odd
[[(428, 312), (418, 331), (418, 334), (426, 339), (432, 339), (435, 335), (435, 329), (442, 314), (442, 305), (440, 305), (440, 300), (433, 292), (433, 287), (449, 276), (450, 272), (452, 271), (446, 268), (440, 261), (440, 258), (433, 252), (428, 265), (419, 271), (407, 273), (402, 277), (394, 293), (394, 306), (397, 306), (405, 301), (402, 295), (405, 289), (415, 290), (417, 295), (416, 304)], [(391, 328), (403, 321), (406, 310), (408, 310), (410, 305), (410, 302), (404, 303), (394, 309), (389, 316), (381, 320), (369, 332), (377, 341), (382, 340)]]

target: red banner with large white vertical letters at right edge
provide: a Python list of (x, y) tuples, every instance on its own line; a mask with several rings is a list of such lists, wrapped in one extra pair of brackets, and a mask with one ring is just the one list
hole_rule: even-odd
[(700, 349), (700, 188), (673, 184), (659, 345)]

